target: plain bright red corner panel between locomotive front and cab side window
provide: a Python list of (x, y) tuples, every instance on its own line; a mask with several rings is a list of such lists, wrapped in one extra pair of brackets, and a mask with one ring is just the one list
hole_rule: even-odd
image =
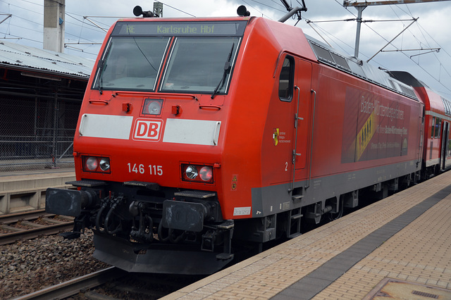
[(252, 215), (249, 187), (260, 186), (264, 176), (261, 130), (265, 119), (262, 116), (268, 112), (277, 56), (277, 41), (271, 38), (265, 22), (250, 20), (225, 104), (228, 125), (224, 130), (221, 185), (226, 199), (223, 201), (226, 219), (245, 219)]

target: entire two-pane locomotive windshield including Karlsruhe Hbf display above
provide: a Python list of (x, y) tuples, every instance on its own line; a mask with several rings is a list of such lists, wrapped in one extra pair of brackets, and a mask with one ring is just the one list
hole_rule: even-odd
[(92, 89), (225, 94), (247, 20), (121, 21)]

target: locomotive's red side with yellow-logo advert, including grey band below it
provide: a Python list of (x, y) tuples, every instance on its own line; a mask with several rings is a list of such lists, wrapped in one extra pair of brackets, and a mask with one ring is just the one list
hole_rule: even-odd
[(321, 68), (311, 169), (315, 201), (419, 170), (419, 102)]

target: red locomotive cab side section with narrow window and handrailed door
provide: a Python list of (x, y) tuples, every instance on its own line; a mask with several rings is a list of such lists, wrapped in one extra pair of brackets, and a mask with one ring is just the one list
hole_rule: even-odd
[(299, 181), (307, 163), (309, 113), (311, 108), (311, 63), (292, 54), (280, 54), (266, 115), (263, 184)]

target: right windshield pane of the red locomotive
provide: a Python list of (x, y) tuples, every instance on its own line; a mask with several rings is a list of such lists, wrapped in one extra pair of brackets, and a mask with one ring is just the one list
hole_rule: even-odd
[(178, 37), (161, 91), (226, 92), (239, 42), (239, 37)]

